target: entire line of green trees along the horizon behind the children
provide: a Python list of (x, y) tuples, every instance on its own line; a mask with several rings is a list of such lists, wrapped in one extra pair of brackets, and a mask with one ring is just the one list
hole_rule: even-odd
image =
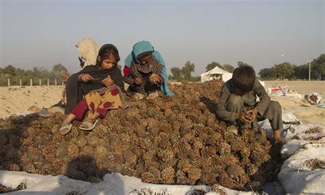
[[(237, 66), (248, 65), (245, 62), (238, 62)], [(232, 73), (234, 67), (232, 65), (220, 65), (219, 62), (210, 62), (206, 65), (206, 72), (219, 67), (225, 71)], [(50, 84), (54, 84), (54, 80), (61, 80), (62, 72), (67, 71), (67, 68), (61, 64), (54, 65), (51, 70), (44, 67), (34, 67), (32, 70), (24, 70), (16, 68), (12, 65), (0, 68), (0, 86), (5, 86), (8, 83), (8, 78), (12, 85), (19, 85), (21, 79), (23, 85), (29, 85), (29, 80), (33, 79), (33, 84), (38, 84), (38, 79), (43, 84), (50, 80)], [(172, 67), (169, 80), (173, 81), (200, 81), (200, 76), (192, 76), (195, 72), (193, 62), (187, 61), (182, 68)], [(261, 69), (258, 75), (262, 80), (308, 80), (309, 79), (309, 63), (296, 66), (290, 62), (283, 62), (274, 65), (271, 68)], [(325, 54), (321, 54), (318, 58), (311, 61), (311, 79), (325, 80)]]

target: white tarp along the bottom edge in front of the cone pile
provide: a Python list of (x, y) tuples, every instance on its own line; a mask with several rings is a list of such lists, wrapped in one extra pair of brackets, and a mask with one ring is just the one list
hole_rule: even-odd
[[(143, 183), (134, 176), (119, 173), (106, 174), (99, 183), (88, 183), (69, 179), (67, 176), (45, 176), (26, 172), (0, 171), (0, 183), (16, 188), (23, 183), (27, 188), (8, 194), (195, 194), (195, 190), (204, 190), (206, 194), (219, 194), (206, 185), (156, 185)], [(219, 192), (226, 194), (255, 194), (241, 192), (218, 186)]]

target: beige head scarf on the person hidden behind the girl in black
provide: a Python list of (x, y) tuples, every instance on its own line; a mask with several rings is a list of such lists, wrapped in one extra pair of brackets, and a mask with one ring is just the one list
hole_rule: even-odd
[(77, 43), (77, 49), (80, 56), (85, 60), (84, 67), (96, 65), (99, 46), (92, 38), (82, 38), (82, 40)]

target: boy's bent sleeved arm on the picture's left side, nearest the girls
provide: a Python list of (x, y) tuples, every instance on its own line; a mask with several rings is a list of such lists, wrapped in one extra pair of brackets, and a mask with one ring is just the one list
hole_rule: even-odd
[(219, 103), (217, 104), (217, 115), (219, 118), (234, 123), (238, 118), (238, 113), (232, 113), (226, 110), (226, 101), (230, 96), (230, 91), (226, 84), (220, 91)]

